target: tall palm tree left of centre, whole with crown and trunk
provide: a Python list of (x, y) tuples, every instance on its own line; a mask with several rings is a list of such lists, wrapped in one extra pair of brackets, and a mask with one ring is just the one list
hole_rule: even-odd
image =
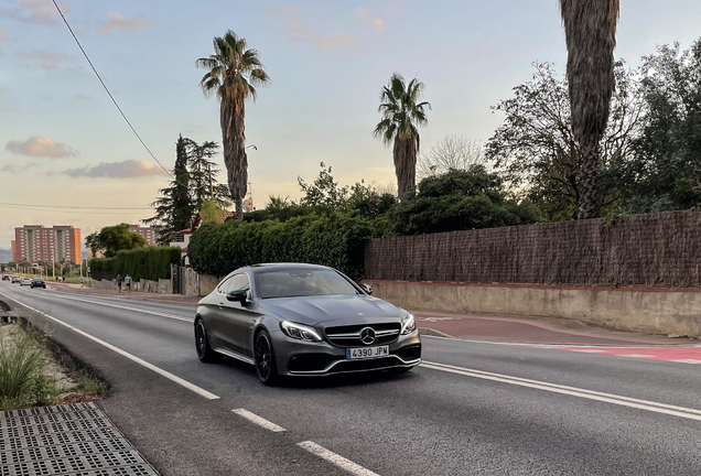
[(224, 164), (238, 219), (244, 218), (242, 201), (248, 184), (246, 99), (256, 100), (256, 87), (270, 83), (258, 51), (246, 46), (246, 39), (228, 30), (224, 36), (214, 37), (215, 54), (195, 62), (197, 67), (208, 69), (199, 82), (205, 96), (216, 93), (219, 99)]

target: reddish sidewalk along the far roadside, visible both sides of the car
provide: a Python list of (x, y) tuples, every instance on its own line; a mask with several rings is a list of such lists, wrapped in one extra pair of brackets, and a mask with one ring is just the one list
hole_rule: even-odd
[[(112, 290), (80, 288), (80, 284), (54, 283), (56, 291), (75, 294), (161, 302), (168, 304), (196, 305), (202, 299), (180, 294), (154, 294), (143, 292), (121, 293)], [(510, 317), (505, 315), (451, 314), (432, 311), (411, 311), (417, 325), (424, 334), (463, 339), (568, 345), (698, 345), (698, 340), (670, 338), (661, 335), (613, 331), (595, 327), (579, 321), (554, 317)]]

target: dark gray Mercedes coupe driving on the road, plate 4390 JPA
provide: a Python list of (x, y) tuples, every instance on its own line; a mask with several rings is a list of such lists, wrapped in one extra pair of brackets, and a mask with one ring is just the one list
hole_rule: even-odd
[(411, 370), (421, 363), (413, 316), (321, 266), (238, 269), (197, 305), (197, 357), (252, 364), (266, 385), (279, 376)]

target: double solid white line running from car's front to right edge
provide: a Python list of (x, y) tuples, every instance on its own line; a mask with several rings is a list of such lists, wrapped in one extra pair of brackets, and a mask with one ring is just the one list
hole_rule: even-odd
[(561, 386), (557, 383), (544, 382), (540, 380), (530, 380), (520, 377), (505, 376), (500, 374), (486, 372), (482, 370), (467, 369), (463, 367), (449, 366), (445, 364), (428, 363), (421, 364), (433, 370), (441, 370), (451, 374), (463, 375), (467, 377), (476, 377), (485, 380), (493, 380), (503, 383), (510, 383), (520, 387), (528, 387), (538, 390), (546, 390), (554, 393), (562, 393), (572, 397), (580, 397), (589, 400), (597, 400), (607, 403), (614, 403), (622, 407), (630, 407), (640, 410), (647, 410), (656, 413), (665, 413), (673, 416), (681, 416), (689, 420), (701, 421), (701, 410), (677, 407), (667, 403), (658, 403), (649, 400), (640, 400), (630, 397), (623, 397), (612, 393), (604, 393), (594, 390), (586, 390), (576, 387)]

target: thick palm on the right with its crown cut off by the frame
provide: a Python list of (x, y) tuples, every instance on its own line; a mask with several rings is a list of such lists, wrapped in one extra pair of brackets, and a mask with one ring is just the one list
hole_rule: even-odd
[(596, 218), (598, 141), (606, 130), (615, 87), (618, 0), (560, 0), (560, 13), (568, 46), (572, 132), (580, 144), (579, 218)]

